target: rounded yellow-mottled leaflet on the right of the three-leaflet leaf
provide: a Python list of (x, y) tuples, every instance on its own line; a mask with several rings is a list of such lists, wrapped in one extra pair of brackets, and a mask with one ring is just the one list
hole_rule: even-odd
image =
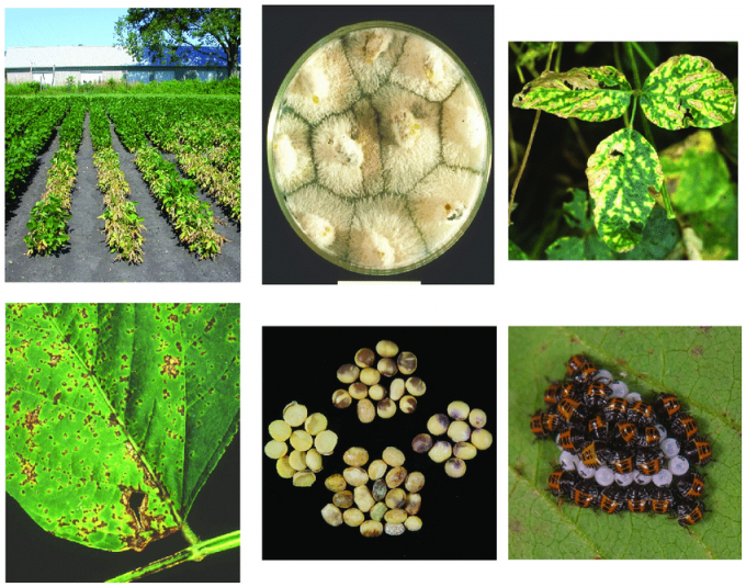
[(677, 55), (656, 67), (640, 102), (645, 116), (668, 131), (714, 128), (736, 114), (733, 84), (712, 61), (692, 55)]

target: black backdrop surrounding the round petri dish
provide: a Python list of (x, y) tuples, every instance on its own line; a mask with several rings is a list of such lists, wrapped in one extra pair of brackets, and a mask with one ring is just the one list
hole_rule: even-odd
[(444, 255), (425, 267), (399, 275), (361, 275), (330, 263), (298, 238), (274, 196), (265, 149), (267, 124), (274, 97), (295, 61), (315, 43), (337, 29), (373, 20), (416, 26), (450, 47), (474, 77), (494, 129), (494, 14), (491, 5), (263, 7), (263, 283), (336, 283), (340, 280), (495, 282), (495, 190), (491, 180), (471, 226)]

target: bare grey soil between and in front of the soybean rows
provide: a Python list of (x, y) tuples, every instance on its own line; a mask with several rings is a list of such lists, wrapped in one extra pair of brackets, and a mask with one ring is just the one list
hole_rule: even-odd
[[(72, 191), (72, 216), (68, 224), (69, 246), (56, 256), (26, 257), (26, 223), (31, 208), (42, 197), (46, 187), (52, 156), (59, 147), (55, 133), (49, 147), (37, 158), (38, 168), (16, 205), (5, 214), (5, 281), (240, 281), (240, 225), (231, 221), (221, 206), (206, 194), (199, 197), (212, 204), (218, 234), (229, 242), (214, 260), (200, 260), (179, 244), (179, 239), (155, 197), (135, 167), (134, 156), (122, 146), (112, 125), (112, 145), (120, 156), (120, 167), (129, 183), (129, 199), (137, 202), (137, 213), (145, 227), (144, 261), (127, 264), (116, 261), (103, 234), (103, 195), (97, 189), (93, 146), (89, 115), (83, 123), (83, 138), (78, 150), (78, 177)], [(172, 157), (169, 157), (173, 160)]]

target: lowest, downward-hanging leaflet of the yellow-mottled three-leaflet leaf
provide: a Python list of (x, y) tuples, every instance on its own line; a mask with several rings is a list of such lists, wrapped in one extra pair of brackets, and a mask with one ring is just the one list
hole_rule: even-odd
[(596, 202), (596, 229), (609, 248), (624, 252), (642, 240), (655, 197), (663, 185), (653, 146), (631, 128), (617, 131), (596, 148), (586, 169)]

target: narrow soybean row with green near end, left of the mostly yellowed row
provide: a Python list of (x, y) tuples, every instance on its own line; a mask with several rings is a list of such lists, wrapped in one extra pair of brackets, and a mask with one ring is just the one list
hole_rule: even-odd
[(70, 110), (59, 127), (59, 148), (47, 171), (46, 191), (31, 210), (26, 224), (29, 234), (23, 238), (26, 255), (49, 255), (61, 249), (70, 239), (67, 221), (70, 218), (70, 194), (78, 176), (76, 155), (83, 134), (83, 120), (88, 104), (71, 100)]

